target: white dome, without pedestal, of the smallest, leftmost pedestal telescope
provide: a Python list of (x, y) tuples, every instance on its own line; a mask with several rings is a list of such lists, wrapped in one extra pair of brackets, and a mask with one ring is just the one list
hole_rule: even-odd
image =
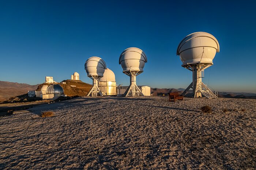
[(99, 57), (90, 57), (84, 64), (87, 76), (99, 76), (102, 77), (106, 69), (106, 63)]

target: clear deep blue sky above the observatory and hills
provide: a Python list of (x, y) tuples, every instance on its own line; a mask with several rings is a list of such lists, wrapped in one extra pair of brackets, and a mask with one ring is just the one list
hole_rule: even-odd
[(178, 43), (193, 32), (220, 44), (203, 81), (218, 91), (256, 92), (256, 4), (253, 1), (0, 1), (0, 80), (27, 84), (74, 72), (86, 76), (91, 56), (105, 60), (117, 84), (129, 84), (118, 64), (128, 47), (148, 58), (138, 85), (186, 88)]

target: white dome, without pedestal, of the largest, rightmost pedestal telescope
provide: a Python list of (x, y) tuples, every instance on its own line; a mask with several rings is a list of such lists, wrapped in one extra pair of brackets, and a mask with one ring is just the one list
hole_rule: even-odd
[(207, 32), (194, 32), (186, 36), (178, 45), (177, 55), (180, 55), (182, 65), (189, 63), (212, 63), (216, 52), (219, 52), (219, 42)]

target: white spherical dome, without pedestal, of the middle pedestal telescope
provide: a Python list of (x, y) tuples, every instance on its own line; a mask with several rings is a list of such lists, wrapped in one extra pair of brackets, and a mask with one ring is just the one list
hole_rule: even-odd
[(123, 72), (143, 72), (143, 68), (146, 62), (146, 54), (136, 47), (130, 47), (124, 50), (119, 57), (119, 64), (121, 64)]

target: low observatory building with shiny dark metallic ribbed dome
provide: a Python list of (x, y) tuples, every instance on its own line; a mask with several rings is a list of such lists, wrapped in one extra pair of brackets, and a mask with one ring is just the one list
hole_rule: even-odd
[(58, 84), (48, 86), (45, 94), (42, 94), (43, 100), (44, 99), (55, 100), (60, 96), (67, 96), (67, 95), (64, 94), (63, 88)]

